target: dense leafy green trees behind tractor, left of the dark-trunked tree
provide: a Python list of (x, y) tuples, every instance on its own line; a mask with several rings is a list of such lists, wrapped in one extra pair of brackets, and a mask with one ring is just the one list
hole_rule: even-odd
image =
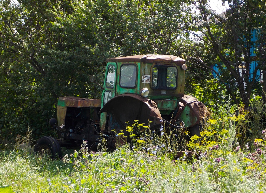
[(52, 135), (47, 123), (57, 98), (99, 97), (107, 58), (183, 55), (184, 7), (173, 0), (1, 0), (0, 136), (28, 127), (36, 138)]

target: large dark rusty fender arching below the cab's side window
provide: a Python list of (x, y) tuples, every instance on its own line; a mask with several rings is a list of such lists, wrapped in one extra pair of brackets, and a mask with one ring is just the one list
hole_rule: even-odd
[(124, 127), (125, 122), (132, 124), (134, 120), (148, 126), (148, 119), (152, 121), (151, 127), (155, 127), (161, 124), (160, 120), (162, 119), (156, 102), (130, 93), (109, 100), (99, 113), (103, 112), (112, 115), (122, 127)]

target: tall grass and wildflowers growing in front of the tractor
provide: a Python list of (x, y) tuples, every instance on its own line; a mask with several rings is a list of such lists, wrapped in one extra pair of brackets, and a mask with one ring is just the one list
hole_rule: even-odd
[[(131, 143), (118, 140), (113, 152), (81, 144), (63, 160), (35, 155), (20, 145), (28, 139), (18, 138), (12, 151), (0, 153), (0, 192), (266, 192), (266, 129), (236, 109), (219, 107), (201, 137), (186, 143), (167, 128), (153, 132), (136, 121), (125, 128)], [(176, 157), (181, 146), (184, 154)]]

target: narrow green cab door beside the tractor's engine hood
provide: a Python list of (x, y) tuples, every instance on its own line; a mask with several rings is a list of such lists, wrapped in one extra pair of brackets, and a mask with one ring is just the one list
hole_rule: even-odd
[[(103, 83), (102, 91), (102, 104), (101, 108), (115, 96), (115, 85), (116, 85), (116, 73), (117, 73), (117, 64), (115, 62), (108, 62), (106, 64), (105, 78)], [(107, 114), (101, 113), (100, 127), (101, 130), (105, 130)]]

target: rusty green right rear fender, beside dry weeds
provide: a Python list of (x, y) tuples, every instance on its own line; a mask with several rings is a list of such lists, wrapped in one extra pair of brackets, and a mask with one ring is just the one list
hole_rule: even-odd
[(182, 108), (178, 119), (185, 123), (186, 128), (197, 125), (202, 119), (207, 118), (209, 114), (206, 106), (201, 101), (189, 95), (179, 98), (178, 106)]

